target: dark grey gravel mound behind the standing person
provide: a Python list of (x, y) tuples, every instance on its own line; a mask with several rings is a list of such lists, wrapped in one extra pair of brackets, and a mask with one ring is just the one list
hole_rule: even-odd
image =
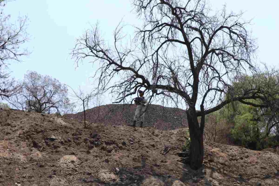
[[(133, 123), (136, 105), (110, 104), (86, 110), (88, 122), (109, 124), (113, 126), (130, 125)], [(83, 112), (67, 114), (65, 117), (83, 121)], [(160, 130), (187, 127), (185, 111), (179, 108), (149, 105), (144, 126), (155, 127)]]

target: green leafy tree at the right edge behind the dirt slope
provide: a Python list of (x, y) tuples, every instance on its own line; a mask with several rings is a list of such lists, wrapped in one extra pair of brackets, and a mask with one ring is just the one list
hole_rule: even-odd
[[(250, 149), (262, 149), (264, 140), (270, 133), (276, 135), (279, 125), (279, 73), (271, 70), (253, 76), (241, 76), (233, 88), (237, 94), (253, 90), (261, 95), (261, 99), (241, 100), (225, 109), (231, 110), (231, 115), (227, 115), (226, 119), (234, 124), (232, 137), (235, 142)], [(247, 101), (250, 106), (246, 105)]]

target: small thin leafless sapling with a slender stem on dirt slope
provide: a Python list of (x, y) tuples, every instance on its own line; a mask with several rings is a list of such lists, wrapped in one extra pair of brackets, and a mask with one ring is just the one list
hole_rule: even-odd
[[(67, 86), (70, 87), (69, 85), (67, 85)], [(71, 88), (71, 90), (74, 92), (72, 97), (74, 97), (74, 99), (76, 99), (77, 102), (81, 101), (81, 105), (83, 107), (84, 128), (87, 128), (91, 123), (88, 125), (86, 124), (85, 108), (88, 109), (88, 105), (93, 99), (96, 99), (96, 103), (97, 103), (96, 105), (98, 105), (98, 101), (99, 101), (98, 96), (100, 95), (100, 93), (96, 90), (92, 90), (92, 92), (90, 92), (90, 93), (84, 93), (81, 90), (81, 87), (78, 88), (78, 91), (74, 91), (74, 89), (72, 89), (72, 88)], [(98, 115), (99, 115), (99, 113), (98, 113)]]

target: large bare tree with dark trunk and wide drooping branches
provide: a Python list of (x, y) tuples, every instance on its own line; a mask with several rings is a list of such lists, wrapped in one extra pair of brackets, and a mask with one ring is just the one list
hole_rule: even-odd
[(188, 161), (198, 169), (205, 115), (233, 101), (262, 98), (254, 90), (232, 94), (231, 80), (256, 70), (251, 62), (256, 47), (245, 28), (249, 22), (225, 8), (213, 13), (201, 0), (134, 0), (134, 6), (144, 24), (133, 42), (125, 44), (118, 26), (114, 43), (107, 45), (96, 25), (76, 41), (72, 56), (77, 63), (85, 58), (99, 62), (99, 88), (117, 95), (115, 103), (144, 87), (149, 101), (168, 98), (186, 106), (192, 144)]

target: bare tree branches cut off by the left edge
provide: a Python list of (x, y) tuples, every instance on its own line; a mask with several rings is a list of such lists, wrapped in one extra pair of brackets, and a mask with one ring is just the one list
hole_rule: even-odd
[[(6, 1), (0, 1), (0, 8), (6, 5)], [(21, 87), (14, 79), (10, 79), (9, 61), (20, 61), (21, 56), (28, 55), (26, 49), (22, 49), (24, 42), (28, 40), (26, 33), (27, 18), (19, 17), (17, 24), (10, 24), (10, 15), (0, 14), (0, 97), (9, 98), (20, 92)]]

